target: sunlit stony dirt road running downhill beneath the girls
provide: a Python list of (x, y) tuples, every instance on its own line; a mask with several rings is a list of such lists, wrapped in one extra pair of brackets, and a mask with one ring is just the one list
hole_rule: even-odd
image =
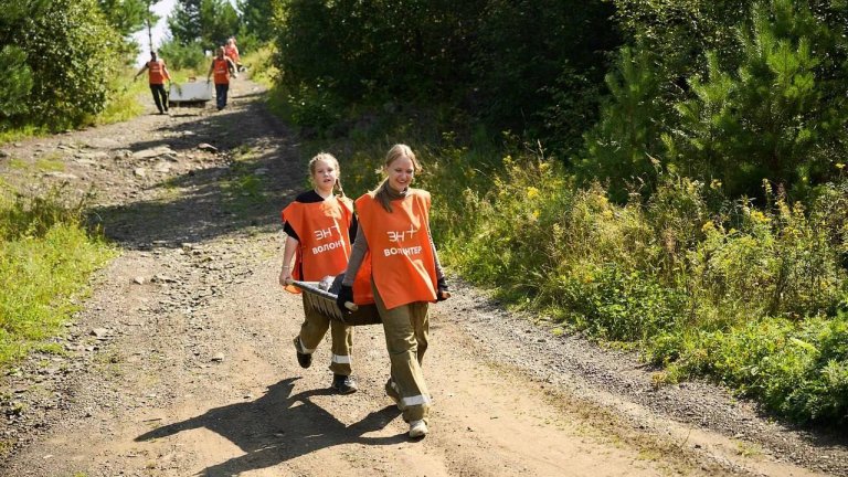
[(656, 388), (633, 356), (558, 337), (458, 280), (432, 308), (426, 438), (406, 437), (383, 394), (379, 327), (356, 329), (360, 391), (333, 394), (329, 343), (298, 367), (300, 301), (276, 283), (278, 210), (315, 151), (261, 98), (240, 78), (221, 113), (0, 146), (11, 182), (96, 190), (121, 251), (56, 338), (66, 356), (3, 377), (0, 475), (848, 475), (845, 442), (708, 384)]

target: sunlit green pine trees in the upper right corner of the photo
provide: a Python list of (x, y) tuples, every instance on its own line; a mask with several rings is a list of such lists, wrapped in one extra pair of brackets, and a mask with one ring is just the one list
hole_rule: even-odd
[[(653, 87), (642, 98), (648, 110), (637, 127), (616, 130), (608, 126), (628, 124), (622, 117), (628, 118), (623, 112), (633, 96), (611, 85), (610, 104), (586, 137), (584, 171), (610, 178), (617, 194), (622, 177), (654, 176), (647, 157), (669, 171), (720, 180), (734, 197), (759, 194), (765, 178), (805, 198), (834, 177), (833, 158), (846, 152), (848, 125), (844, 4), (615, 3), (625, 33), (656, 54)], [(645, 84), (622, 85), (643, 92), (638, 86)], [(639, 140), (629, 135), (634, 130)]]

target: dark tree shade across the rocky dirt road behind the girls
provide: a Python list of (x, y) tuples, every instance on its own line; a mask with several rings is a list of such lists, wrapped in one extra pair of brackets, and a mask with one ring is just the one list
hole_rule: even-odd
[[(256, 95), (239, 96), (236, 104), (220, 113), (209, 114), (206, 108), (198, 115), (193, 108), (177, 108), (173, 115), (179, 119), (159, 128), (161, 138), (126, 145), (134, 152), (168, 146), (182, 156), (197, 155), (198, 146), (206, 142), (219, 155), (212, 167), (148, 183), (138, 194), (147, 197), (144, 192), (160, 189), (157, 199), (95, 208), (91, 221), (126, 248), (148, 248), (153, 243), (180, 246), (247, 226), (277, 224), (287, 195), (304, 183), (306, 165), (289, 144), (294, 134), (253, 98)], [(233, 152), (250, 155), (250, 160), (234, 162)], [(169, 193), (174, 188), (180, 188), (179, 194)]]

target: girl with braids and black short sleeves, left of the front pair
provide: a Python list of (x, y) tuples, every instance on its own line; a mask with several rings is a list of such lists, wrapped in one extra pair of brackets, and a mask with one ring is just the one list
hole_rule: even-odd
[[(351, 242), (358, 229), (353, 203), (344, 197), (339, 181), (339, 161), (331, 155), (321, 152), (309, 161), (309, 174), (315, 189), (297, 195), (282, 212), (288, 236), (283, 252), (279, 284), (292, 293), (299, 293), (290, 285), (293, 279), (319, 282), (326, 276), (344, 272)], [(335, 194), (337, 189), (339, 195)], [(359, 303), (363, 301), (360, 297), (358, 299)], [(354, 299), (351, 297), (350, 301)], [(341, 394), (356, 392), (357, 383), (351, 377), (350, 367), (352, 327), (324, 316), (306, 299), (304, 314), (300, 333), (295, 338), (297, 362), (303, 368), (309, 368), (312, 363), (312, 352), (327, 333), (327, 328), (330, 328), (332, 389)]]

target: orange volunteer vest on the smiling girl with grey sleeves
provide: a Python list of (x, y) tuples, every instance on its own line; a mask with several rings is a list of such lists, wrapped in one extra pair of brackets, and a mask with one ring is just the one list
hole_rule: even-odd
[(436, 300), (436, 262), (430, 243), (430, 192), (410, 189), (386, 212), (372, 193), (357, 199), (371, 252), (374, 286), (385, 307)]

